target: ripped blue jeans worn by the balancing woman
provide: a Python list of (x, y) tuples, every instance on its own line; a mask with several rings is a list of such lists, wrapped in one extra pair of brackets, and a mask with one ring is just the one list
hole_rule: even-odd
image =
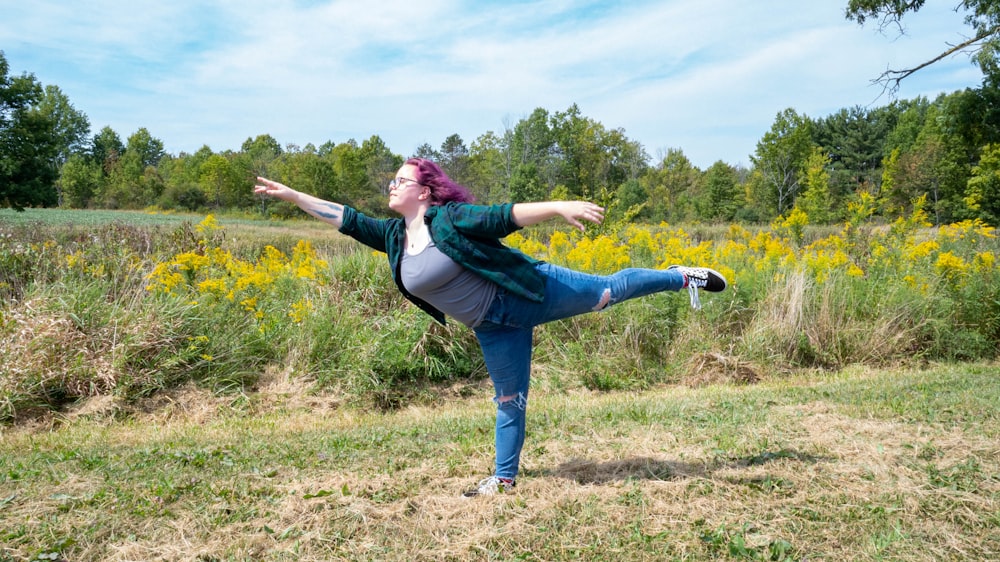
[(544, 300), (534, 302), (499, 289), (474, 329), (496, 392), (495, 474), (502, 478), (516, 477), (520, 466), (534, 327), (684, 288), (684, 276), (673, 270), (630, 268), (590, 275), (548, 263), (535, 267), (545, 277)]

